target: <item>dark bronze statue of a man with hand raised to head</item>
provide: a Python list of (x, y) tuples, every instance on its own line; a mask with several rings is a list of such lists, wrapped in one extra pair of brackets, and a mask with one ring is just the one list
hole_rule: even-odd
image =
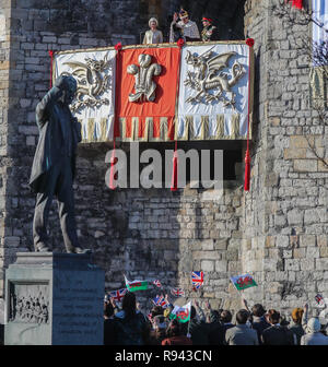
[(55, 86), (36, 106), (39, 140), (36, 147), (30, 187), (37, 192), (33, 221), (35, 251), (48, 251), (47, 221), (54, 196), (58, 199), (60, 226), (67, 252), (85, 252), (79, 247), (75, 220), (73, 177), (75, 149), (81, 141), (81, 125), (69, 105), (77, 92), (72, 76), (59, 76)]

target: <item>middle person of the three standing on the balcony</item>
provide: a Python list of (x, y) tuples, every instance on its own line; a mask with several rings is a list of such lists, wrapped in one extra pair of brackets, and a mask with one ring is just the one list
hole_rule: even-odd
[[(177, 22), (178, 17), (180, 19), (179, 22)], [(185, 42), (200, 40), (197, 24), (189, 20), (189, 15), (184, 9), (180, 10), (179, 14), (174, 13), (171, 23), (169, 42), (174, 43), (178, 38), (184, 38)]]

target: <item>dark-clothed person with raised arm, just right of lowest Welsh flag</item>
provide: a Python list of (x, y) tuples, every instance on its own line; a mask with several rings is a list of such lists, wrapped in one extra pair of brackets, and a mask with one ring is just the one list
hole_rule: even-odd
[(191, 315), (189, 321), (189, 333), (191, 334), (192, 345), (208, 345), (209, 324), (206, 323), (204, 312), (197, 300), (195, 300), (195, 306), (196, 307), (191, 306)]

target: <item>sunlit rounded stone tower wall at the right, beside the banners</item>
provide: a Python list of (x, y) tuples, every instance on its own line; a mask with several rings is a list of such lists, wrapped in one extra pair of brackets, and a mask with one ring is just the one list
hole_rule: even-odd
[[(276, 2), (278, 3), (278, 2)], [(261, 284), (245, 291), (266, 307), (315, 306), (327, 296), (327, 127), (309, 106), (309, 62), (300, 40), (308, 25), (280, 19), (271, 1), (248, 1), (245, 27), (255, 38), (256, 118), (251, 190), (245, 196), (244, 270)], [(297, 22), (296, 22), (297, 23)]]

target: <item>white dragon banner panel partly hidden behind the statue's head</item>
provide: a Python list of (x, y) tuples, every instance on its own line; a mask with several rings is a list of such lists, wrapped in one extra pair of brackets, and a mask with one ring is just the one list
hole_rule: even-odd
[(114, 134), (116, 50), (74, 50), (55, 57), (55, 76), (78, 82), (70, 108), (82, 125), (82, 141), (110, 141)]

